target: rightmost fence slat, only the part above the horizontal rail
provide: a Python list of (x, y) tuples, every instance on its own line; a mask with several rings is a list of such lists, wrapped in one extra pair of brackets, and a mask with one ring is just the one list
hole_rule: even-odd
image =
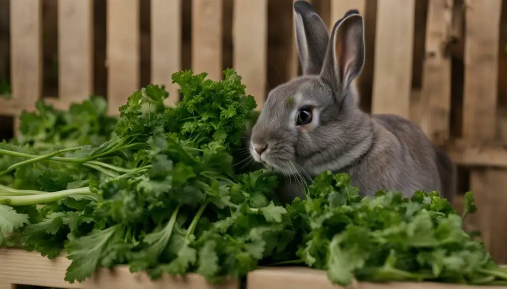
[(467, 1), (463, 137), (495, 137), (501, 0)]

